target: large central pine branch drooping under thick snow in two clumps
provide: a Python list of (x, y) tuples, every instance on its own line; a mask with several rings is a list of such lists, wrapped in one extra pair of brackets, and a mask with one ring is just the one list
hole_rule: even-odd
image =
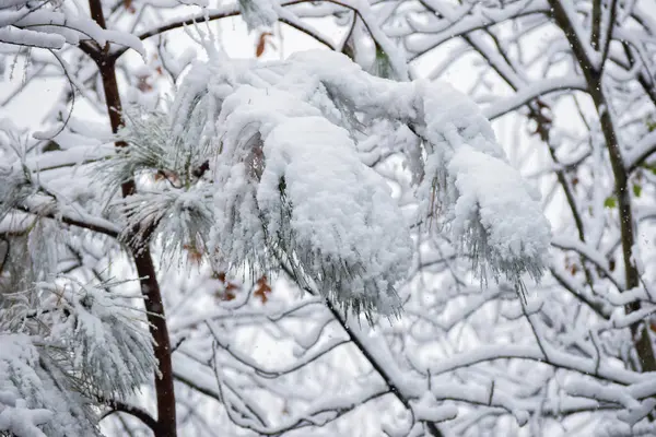
[[(171, 134), (159, 133), (157, 120), (150, 130), (128, 125), (129, 146), (118, 160), (134, 169), (152, 156), (160, 162), (151, 169), (163, 174), (183, 172), (175, 160), (164, 162), (178, 150), (189, 151), (186, 162), (210, 160), (209, 252), (232, 270), (259, 277), (282, 264), (302, 286), (315, 285), (343, 310), (397, 314), (396, 286), (413, 250), (409, 221), (385, 179), (360, 160), (356, 144), (406, 126), (419, 135), (425, 156), (424, 165), (417, 151), (405, 151), (414, 161), (409, 167), (420, 172), (414, 221), (449, 232), (472, 253), (483, 281), (489, 271), (520, 290), (524, 273), (541, 276), (550, 228), (537, 199), (506, 163), (478, 107), (446, 84), (379, 79), (326, 51), (268, 64), (214, 54), (180, 85)], [(199, 145), (194, 152), (180, 144)], [(199, 201), (187, 208), (208, 217), (200, 211), (204, 184), (141, 201), (191, 200), (194, 190)], [(143, 226), (142, 215), (127, 214), (126, 226)], [(155, 228), (181, 223), (169, 213), (145, 221)]]

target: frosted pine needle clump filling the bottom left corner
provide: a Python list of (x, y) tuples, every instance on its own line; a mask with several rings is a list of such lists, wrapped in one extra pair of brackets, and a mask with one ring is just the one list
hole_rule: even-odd
[(98, 405), (151, 375), (151, 340), (126, 299), (60, 279), (0, 295), (0, 432), (99, 435)]

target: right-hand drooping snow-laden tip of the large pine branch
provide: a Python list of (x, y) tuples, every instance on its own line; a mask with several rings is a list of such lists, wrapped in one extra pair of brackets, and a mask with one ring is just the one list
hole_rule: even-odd
[(426, 119), (420, 129), (430, 144), (420, 199), (432, 210), (429, 222), (444, 214), (483, 282), (490, 270), (496, 281), (503, 274), (523, 290), (522, 274), (541, 277), (550, 244), (539, 194), (506, 164), (476, 104), (447, 84), (433, 83), (420, 93)]

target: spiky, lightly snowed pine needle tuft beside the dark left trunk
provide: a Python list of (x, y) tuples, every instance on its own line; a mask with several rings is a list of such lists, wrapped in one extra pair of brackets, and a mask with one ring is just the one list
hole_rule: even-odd
[(171, 129), (163, 114), (134, 114), (127, 119), (129, 129), (121, 130), (119, 137), (128, 146), (101, 165), (101, 178), (115, 191), (136, 176), (155, 175), (161, 184), (152, 184), (114, 205), (129, 224), (124, 226), (122, 239), (134, 244), (162, 237), (163, 260), (167, 262), (179, 259), (184, 246), (204, 250), (213, 211), (211, 190), (201, 180), (209, 142), (194, 134), (198, 121), (188, 120), (181, 135)]

